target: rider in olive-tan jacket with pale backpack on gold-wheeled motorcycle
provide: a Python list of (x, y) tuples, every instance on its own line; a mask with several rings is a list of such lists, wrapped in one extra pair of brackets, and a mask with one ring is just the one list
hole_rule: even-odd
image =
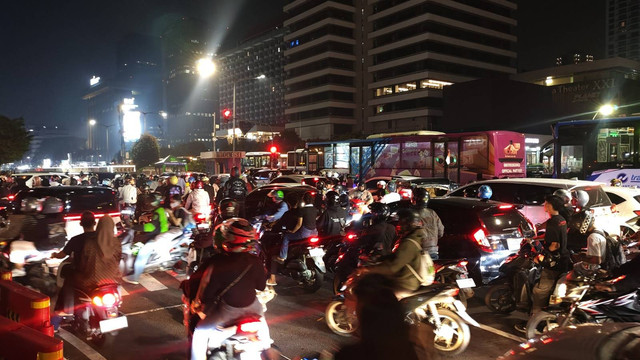
[[(417, 272), (423, 261), (422, 243), (426, 233), (422, 228), (420, 214), (415, 209), (398, 210), (398, 219), (400, 240), (397, 249), (381, 264), (365, 268), (365, 271), (393, 278), (396, 295), (402, 296), (420, 287), (420, 275)], [(433, 271), (433, 267), (429, 271)]]

